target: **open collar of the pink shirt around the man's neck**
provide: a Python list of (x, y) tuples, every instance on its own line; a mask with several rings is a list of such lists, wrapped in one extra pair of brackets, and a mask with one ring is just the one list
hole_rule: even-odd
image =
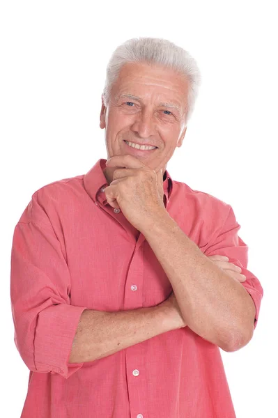
[[(105, 199), (105, 193), (101, 191), (102, 187), (107, 187), (107, 180), (103, 170), (106, 168), (105, 163), (107, 160), (100, 158), (98, 162), (84, 175), (84, 187), (86, 192), (94, 202), (102, 203), (102, 205), (107, 205)], [(167, 208), (171, 192), (173, 189), (173, 180), (167, 170), (164, 173), (163, 180), (163, 189), (164, 189), (164, 205)]]

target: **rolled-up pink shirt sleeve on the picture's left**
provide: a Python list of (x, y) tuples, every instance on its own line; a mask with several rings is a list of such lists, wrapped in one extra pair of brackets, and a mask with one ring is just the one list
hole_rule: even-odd
[(15, 226), (10, 269), (14, 341), (31, 371), (68, 378), (84, 364), (68, 363), (79, 318), (87, 309), (71, 305), (69, 292), (60, 242), (32, 198)]

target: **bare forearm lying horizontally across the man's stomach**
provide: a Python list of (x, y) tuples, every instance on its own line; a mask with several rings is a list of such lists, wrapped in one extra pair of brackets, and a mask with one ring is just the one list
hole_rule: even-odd
[(158, 305), (119, 312), (86, 309), (79, 320), (69, 362), (92, 362), (173, 329), (173, 322)]

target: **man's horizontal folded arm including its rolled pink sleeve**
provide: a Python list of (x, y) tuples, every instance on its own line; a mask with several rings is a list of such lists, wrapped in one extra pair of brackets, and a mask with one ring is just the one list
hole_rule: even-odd
[(83, 362), (183, 326), (177, 309), (158, 305), (103, 312), (70, 304), (68, 265), (36, 194), (15, 227), (10, 275), (15, 345), (31, 371), (68, 378)]

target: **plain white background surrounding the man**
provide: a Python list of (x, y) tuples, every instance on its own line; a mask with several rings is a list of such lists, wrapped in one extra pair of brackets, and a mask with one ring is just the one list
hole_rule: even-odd
[(222, 352), (235, 412), (278, 417), (275, 3), (1, 3), (1, 416), (20, 417), (29, 378), (13, 341), (13, 229), (39, 187), (107, 157), (98, 125), (107, 61), (125, 40), (152, 36), (187, 49), (203, 79), (183, 146), (167, 169), (174, 180), (231, 204), (249, 245), (248, 268), (264, 289), (252, 341)]

